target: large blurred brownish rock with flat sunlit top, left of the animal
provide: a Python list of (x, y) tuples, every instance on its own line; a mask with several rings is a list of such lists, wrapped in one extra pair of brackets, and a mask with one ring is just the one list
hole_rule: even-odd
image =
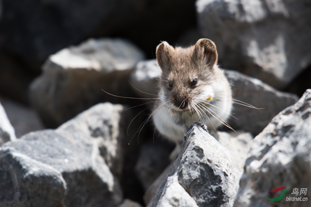
[(128, 103), (128, 83), (143, 53), (122, 39), (89, 39), (49, 57), (30, 85), (30, 103), (47, 127), (57, 127), (96, 103)]

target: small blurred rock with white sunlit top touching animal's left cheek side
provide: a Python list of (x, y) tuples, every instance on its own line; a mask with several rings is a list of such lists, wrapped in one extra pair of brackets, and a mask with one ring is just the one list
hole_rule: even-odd
[[(161, 70), (156, 64), (156, 60), (145, 60), (137, 63), (131, 74), (133, 91), (142, 98), (156, 98), (158, 95), (158, 78)], [(154, 100), (146, 100), (152, 102)]]

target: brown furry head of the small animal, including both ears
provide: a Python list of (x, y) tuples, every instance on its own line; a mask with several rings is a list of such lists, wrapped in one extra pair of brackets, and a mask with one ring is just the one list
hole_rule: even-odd
[(218, 69), (214, 67), (216, 46), (209, 39), (199, 39), (188, 48), (174, 48), (162, 42), (156, 48), (156, 60), (162, 70), (160, 88), (179, 109), (186, 108), (202, 93)]

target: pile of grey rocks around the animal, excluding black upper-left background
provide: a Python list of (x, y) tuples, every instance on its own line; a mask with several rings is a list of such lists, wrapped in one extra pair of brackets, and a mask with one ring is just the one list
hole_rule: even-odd
[[(26, 109), (3, 104), (6, 114), (0, 104), (0, 206), (293, 206), (270, 201), (268, 191), (311, 185), (311, 89), (300, 99), (279, 91), (311, 64), (311, 5), (197, 0), (196, 6), (201, 34), (190, 36), (215, 41), (221, 65), (234, 69), (223, 70), (235, 132), (220, 128), (216, 140), (193, 124), (179, 156), (169, 160), (174, 144), (148, 123), (161, 74), (156, 61), (128, 40), (91, 38), (50, 55), (30, 85), (31, 106), (54, 129), (36, 121), (21, 130), (11, 118), (14, 130), (10, 113)], [(37, 52), (29, 56), (38, 61)]]

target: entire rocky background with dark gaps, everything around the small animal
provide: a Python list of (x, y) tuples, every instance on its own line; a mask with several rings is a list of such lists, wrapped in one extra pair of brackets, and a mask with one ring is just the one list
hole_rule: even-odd
[[(311, 188), (310, 10), (0, 0), (0, 206), (311, 206), (286, 200)], [(216, 43), (235, 132), (215, 139), (193, 124), (170, 160), (174, 144), (150, 121), (140, 128), (161, 74), (152, 54), (160, 40), (198, 38)]]

